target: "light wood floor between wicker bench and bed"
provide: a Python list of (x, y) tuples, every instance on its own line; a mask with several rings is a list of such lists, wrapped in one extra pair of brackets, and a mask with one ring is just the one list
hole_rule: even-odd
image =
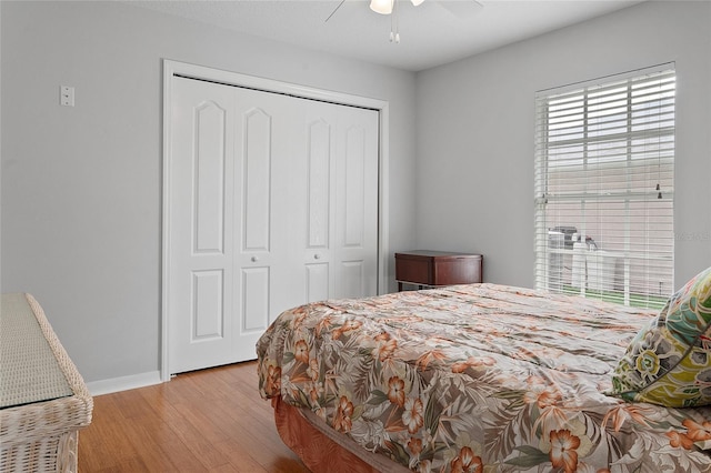
[(79, 472), (308, 473), (259, 396), (257, 363), (180, 374), (94, 396), (79, 433)]

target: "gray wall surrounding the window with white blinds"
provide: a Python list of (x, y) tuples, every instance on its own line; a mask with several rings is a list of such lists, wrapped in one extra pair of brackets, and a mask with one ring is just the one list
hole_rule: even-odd
[(418, 74), (417, 243), (533, 286), (534, 93), (675, 61), (675, 286), (711, 265), (711, 2), (649, 1)]

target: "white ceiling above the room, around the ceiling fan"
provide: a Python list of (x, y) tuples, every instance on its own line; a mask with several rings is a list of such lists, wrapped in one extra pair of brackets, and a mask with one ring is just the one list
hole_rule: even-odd
[[(126, 0), (242, 33), (419, 71), (564, 28), (643, 0), (398, 1), (391, 20), (367, 0)], [(338, 8), (336, 13), (326, 21)]]

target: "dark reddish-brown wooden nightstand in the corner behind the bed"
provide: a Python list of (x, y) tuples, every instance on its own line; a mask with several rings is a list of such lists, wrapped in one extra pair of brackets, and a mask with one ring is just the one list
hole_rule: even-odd
[(482, 282), (481, 254), (414, 250), (395, 253), (398, 291), (402, 284), (451, 285)]

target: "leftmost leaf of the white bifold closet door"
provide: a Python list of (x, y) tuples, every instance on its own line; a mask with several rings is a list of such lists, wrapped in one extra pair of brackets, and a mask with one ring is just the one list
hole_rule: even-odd
[(170, 147), (171, 373), (232, 358), (232, 91), (176, 79)]

